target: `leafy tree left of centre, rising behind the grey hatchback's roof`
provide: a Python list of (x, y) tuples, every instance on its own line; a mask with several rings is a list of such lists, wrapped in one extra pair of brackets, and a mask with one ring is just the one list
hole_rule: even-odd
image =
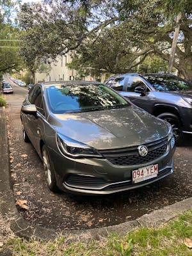
[[(51, 8), (51, 12), (50, 12)], [(51, 63), (58, 55), (76, 49), (83, 40), (84, 18), (70, 5), (23, 4), (19, 19), (22, 34), (20, 55), (35, 76), (40, 63)]]

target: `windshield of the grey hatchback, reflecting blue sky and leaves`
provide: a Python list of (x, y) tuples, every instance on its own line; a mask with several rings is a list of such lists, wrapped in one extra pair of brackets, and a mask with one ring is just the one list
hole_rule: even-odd
[(46, 89), (52, 113), (74, 113), (130, 106), (118, 93), (103, 84), (69, 84)]

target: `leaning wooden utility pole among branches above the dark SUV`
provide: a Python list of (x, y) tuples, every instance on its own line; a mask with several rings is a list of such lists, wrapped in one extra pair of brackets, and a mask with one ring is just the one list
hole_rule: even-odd
[(174, 36), (173, 36), (173, 41), (172, 41), (172, 49), (170, 52), (170, 60), (169, 60), (169, 64), (168, 64), (168, 73), (172, 72), (172, 68), (173, 68), (173, 61), (175, 58), (175, 50), (177, 47), (177, 39), (179, 36), (179, 30), (180, 30), (180, 19), (182, 17), (182, 13), (179, 12), (176, 18), (176, 28), (175, 28), (175, 32), (174, 32)]

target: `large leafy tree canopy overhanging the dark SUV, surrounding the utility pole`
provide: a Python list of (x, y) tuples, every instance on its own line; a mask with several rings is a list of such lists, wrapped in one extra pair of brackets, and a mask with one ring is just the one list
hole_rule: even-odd
[[(150, 55), (168, 62), (176, 17), (182, 13), (173, 67), (187, 79), (191, 78), (192, 1), (144, 0), (141, 4), (141, 1), (134, 0), (118, 3), (115, 24), (89, 36), (77, 50), (78, 54), (74, 54), (72, 67), (78, 68), (79, 65), (81, 73), (83, 70), (93, 73), (93, 68), (98, 72), (100, 68), (116, 74), (137, 70), (136, 66)], [(88, 68), (89, 64), (92, 68)]]

